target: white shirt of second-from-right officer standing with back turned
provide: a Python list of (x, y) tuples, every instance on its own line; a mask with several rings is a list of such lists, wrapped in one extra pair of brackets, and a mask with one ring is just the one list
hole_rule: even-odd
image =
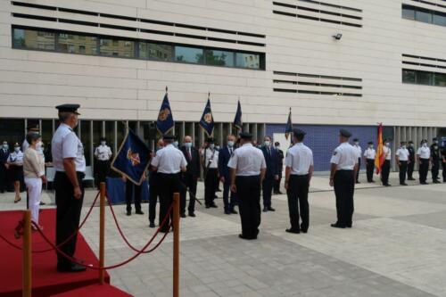
[(313, 152), (305, 144), (294, 144), (286, 153), (285, 166), (291, 168), (291, 175), (307, 175), (313, 164)]

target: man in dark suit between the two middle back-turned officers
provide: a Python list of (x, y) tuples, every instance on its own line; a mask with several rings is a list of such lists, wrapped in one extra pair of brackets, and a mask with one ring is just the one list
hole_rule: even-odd
[(263, 138), (261, 151), (267, 163), (267, 172), (261, 186), (263, 192), (263, 212), (275, 211), (271, 207), (271, 194), (274, 181), (278, 179), (278, 153), (274, 147), (271, 147), (271, 137), (265, 136)]

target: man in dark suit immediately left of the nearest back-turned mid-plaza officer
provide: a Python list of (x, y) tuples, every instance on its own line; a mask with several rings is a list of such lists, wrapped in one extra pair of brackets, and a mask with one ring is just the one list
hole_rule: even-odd
[(229, 159), (231, 159), (234, 150), (235, 150), (235, 136), (228, 135), (227, 146), (223, 147), (219, 151), (219, 176), (220, 176), (220, 181), (223, 183), (223, 203), (225, 204), (226, 214), (231, 214), (231, 213), (237, 214), (237, 211), (234, 210), (235, 193), (230, 191), (231, 178), (229, 177), (229, 168), (227, 167), (227, 162), (229, 161)]

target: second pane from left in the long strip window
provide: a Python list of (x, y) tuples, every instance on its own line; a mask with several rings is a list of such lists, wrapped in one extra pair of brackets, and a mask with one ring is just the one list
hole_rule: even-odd
[(81, 35), (57, 35), (57, 50), (69, 54), (97, 54), (97, 38)]

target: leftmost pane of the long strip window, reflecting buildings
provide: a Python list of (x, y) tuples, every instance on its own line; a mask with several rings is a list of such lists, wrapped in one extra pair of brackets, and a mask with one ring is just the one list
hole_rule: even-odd
[(12, 45), (18, 48), (51, 51), (55, 49), (55, 34), (31, 29), (14, 29)]

